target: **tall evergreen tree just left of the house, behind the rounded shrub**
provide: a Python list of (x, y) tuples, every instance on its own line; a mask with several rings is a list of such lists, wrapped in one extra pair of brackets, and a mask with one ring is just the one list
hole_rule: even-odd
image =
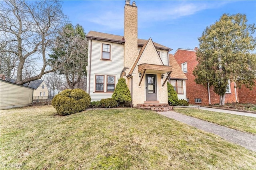
[(49, 56), (54, 65), (59, 65), (62, 62), (60, 59), (67, 61), (58, 68), (58, 72), (66, 76), (68, 86), (74, 89), (86, 79), (87, 55), (88, 43), (82, 26), (66, 24), (56, 38), (53, 53)]

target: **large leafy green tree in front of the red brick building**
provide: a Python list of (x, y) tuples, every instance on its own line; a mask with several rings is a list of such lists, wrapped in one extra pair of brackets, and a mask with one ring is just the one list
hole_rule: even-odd
[(193, 71), (195, 81), (213, 86), (214, 92), (220, 95), (220, 105), (225, 103), (229, 80), (239, 86), (255, 86), (255, 25), (246, 22), (244, 14), (223, 14), (198, 38), (200, 48), (196, 53), (198, 65)]

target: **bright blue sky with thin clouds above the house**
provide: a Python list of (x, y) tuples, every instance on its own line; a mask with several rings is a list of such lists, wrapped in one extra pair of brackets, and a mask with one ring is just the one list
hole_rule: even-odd
[[(133, 0), (131, 0), (131, 3)], [(198, 37), (222, 14), (242, 13), (247, 24), (256, 23), (256, 1), (154, 1), (135, 0), (138, 7), (138, 38), (152, 38), (173, 50), (194, 49)], [(124, 35), (125, 0), (63, 1), (62, 7), (73, 25), (90, 30)], [(256, 34), (254, 34), (255, 36)]]

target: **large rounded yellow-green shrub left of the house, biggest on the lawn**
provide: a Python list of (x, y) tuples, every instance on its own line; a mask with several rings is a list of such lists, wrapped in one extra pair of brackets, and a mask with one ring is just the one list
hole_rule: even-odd
[(90, 101), (91, 97), (82, 89), (66, 89), (52, 99), (52, 106), (58, 115), (71, 115), (85, 111)]

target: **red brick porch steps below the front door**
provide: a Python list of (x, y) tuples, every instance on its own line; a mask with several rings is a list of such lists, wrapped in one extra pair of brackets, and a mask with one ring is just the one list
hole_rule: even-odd
[(167, 103), (151, 103), (151, 104), (137, 104), (137, 109), (144, 109), (144, 110), (152, 110), (152, 111), (171, 111), (172, 106), (169, 106)]

